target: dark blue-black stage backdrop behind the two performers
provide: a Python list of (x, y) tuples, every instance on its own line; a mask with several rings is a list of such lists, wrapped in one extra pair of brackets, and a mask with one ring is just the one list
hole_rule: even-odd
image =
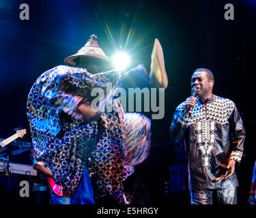
[[(19, 18), (21, 3), (29, 5), (29, 20)], [(224, 18), (226, 3), (234, 6), (234, 20)], [(165, 117), (152, 120), (150, 157), (128, 179), (128, 188), (141, 179), (152, 202), (189, 204), (186, 189), (169, 189), (169, 167), (176, 166), (180, 158), (177, 145), (169, 139), (169, 126), (175, 107), (190, 95), (193, 71), (207, 67), (215, 75), (214, 93), (232, 99), (244, 121), (245, 152), (237, 174), (239, 203), (246, 204), (255, 161), (255, 18), (253, 0), (2, 0), (0, 137), (8, 138), (16, 127), (29, 131), (26, 103), (33, 82), (47, 69), (63, 65), (63, 59), (76, 53), (91, 34), (98, 35), (98, 43), (109, 57), (115, 50), (128, 50), (129, 68), (144, 63), (150, 69), (154, 38), (158, 38), (169, 77)], [(29, 132), (23, 141), (31, 142)], [(11, 160), (27, 162), (26, 155)], [(0, 183), (5, 189), (6, 178)]]

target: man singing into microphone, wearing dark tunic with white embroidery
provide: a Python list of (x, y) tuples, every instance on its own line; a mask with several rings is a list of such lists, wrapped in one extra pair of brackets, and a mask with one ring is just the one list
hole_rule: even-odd
[(191, 204), (237, 204), (235, 167), (244, 150), (244, 126), (236, 104), (213, 95), (213, 86), (209, 69), (195, 70), (196, 95), (177, 106), (170, 136), (186, 144)]

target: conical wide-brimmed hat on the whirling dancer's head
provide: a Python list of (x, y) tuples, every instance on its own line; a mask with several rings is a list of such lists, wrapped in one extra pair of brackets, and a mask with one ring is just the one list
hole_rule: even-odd
[(93, 61), (99, 65), (109, 65), (111, 62), (98, 45), (97, 39), (97, 35), (91, 35), (86, 44), (75, 55), (67, 57), (64, 62), (67, 65), (76, 66), (74, 59), (79, 57), (81, 61), (88, 61), (88, 63)]

